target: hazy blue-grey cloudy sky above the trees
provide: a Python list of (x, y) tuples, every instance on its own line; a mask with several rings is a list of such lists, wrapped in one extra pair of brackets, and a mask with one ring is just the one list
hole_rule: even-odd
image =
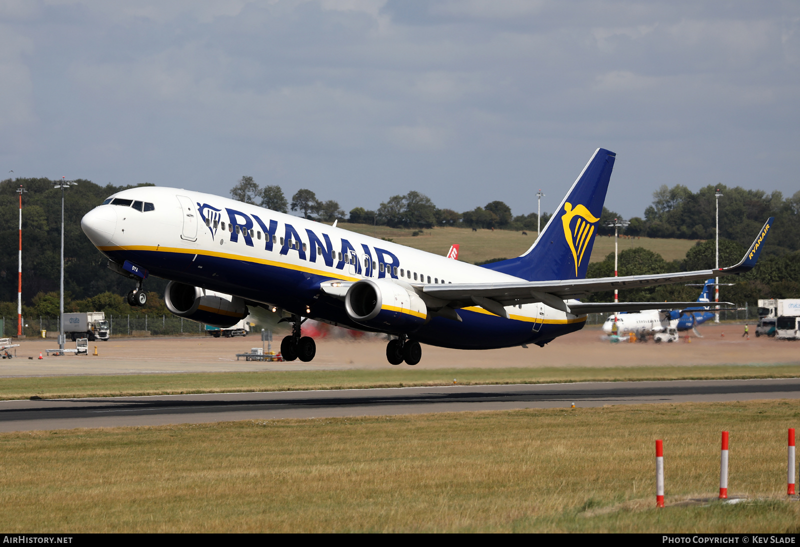
[(794, 194), (798, 114), (800, 2), (0, 0), (2, 178), (528, 214), (602, 147), (630, 218)]

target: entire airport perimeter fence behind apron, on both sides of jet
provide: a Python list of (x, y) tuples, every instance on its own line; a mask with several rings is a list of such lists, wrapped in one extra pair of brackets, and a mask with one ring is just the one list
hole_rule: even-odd
[[(745, 304), (737, 306), (735, 311), (721, 311), (720, 321), (758, 321), (758, 306)], [(586, 317), (586, 325), (602, 325), (606, 319), (614, 313), (589, 313)], [(25, 325), (23, 332), (26, 337), (40, 337), (42, 330), (50, 333), (58, 333), (57, 317), (22, 317)], [(110, 317), (111, 336), (137, 336), (145, 335), (150, 331), (150, 336), (180, 336), (198, 335), (205, 333), (206, 325), (189, 321), (183, 317), (174, 315), (112, 315)], [(11, 337), (17, 334), (17, 317), (2, 317), (2, 336)]]

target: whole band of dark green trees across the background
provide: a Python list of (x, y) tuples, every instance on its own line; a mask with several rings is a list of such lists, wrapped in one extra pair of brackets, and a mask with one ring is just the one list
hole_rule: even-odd
[[(22, 197), (22, 297), (30, 310), (25, 313), (44, 317), (53, 309), (58, 309), (58, 299), (54, 294), (58, 293), (62, 193), (54, 188), (54, 182), (47, 178), (17, 178), (0, 182), (0, 302), (7, 304), (2, 308), (2, 315), (6, 317), (16, 316), (19, 186), (27, 190)], [(126, 310), (125, 313), (159, 313), (157, 309), (150, 310), (149, 307), (127, 310), (124, 302), (108, 300), (114, 295), (127, 293), (133, 287), (133, 282), (106, 268), (107, 259), (86, 238), (80, 226), (83, 215), (100, 205), (105, 198), (134, 186), (101, 186), (84, 179), (75, 182), (75, 186), (65, 192), (65, 309), (70, 311), (70, 306), (75, 303), (78, 306), (76, 311), (94, 308), (114, 309), (114, 313), (123, 313), (123, 309)], [(647, 208), (644, 218), (639, 219), (641, 222), (637, 218), (631, 218), (625, 233), (650, 237), (711, 239), (714, 237), (714, 190), (714, 187), (709, 186), (692, 194), (682, 186), (673, 189), (662, 187), (654, 194), (653, 205)], [(742, 250), (743, 254), (744, 246), (750, 245), (764, 219), (768, 216), (775, 217), (774, 230), (770, 233), (759, 265), (754, 273), (747, 274), (750, 277), (742, 276), (742, 280), (746, 279), (750, 283), (750, 293), (747, 294), (754, 295), (758, 290), (762, 290), (760, 297), (797, 294), (792, 292), (794, 285), (786, 285), (782, 289), (783, 285), (779, 283), (800, 282), (789, 265), (792, 260), (800, 263), (800, 257), (794, 253), (800, 249), (800, 192), (792, 198), (782, 198), (780, 193), (766, 194), (760, 190), (729, 189), (722, 186), (721, 191), (724, 197), (719, 198), (720, 233), (723, 239), (738, 245), (737, 256), (734, 257), (736, 260), (741, 258), (738, 250)], [(231, 195), (244, 202), (282, 212), (292, 210), (306, 218), (317, 218), (324, 222), (337, 219), (342, 222), (345, 218), (338, 202), (322, 201), (311, 190), (298, 190), (289, 200), (279, 186), (262, 188), (250, 177), (243, 177), (238, 181), (231, 190)], [(549, 214), (542, 214), (542, 226), (549, 218)], [(598, 230), (600, 234), (613, 234), (613, 229), (605, 227), (613, 218), (619, 218), (619, 215), (604, 208), (601, 222), (598, 222), (598, 225), (602, 225)], [(441, 209), (426, 195), (411, 191), (406, 195), (390, 197), (376, 210), (355, 207), (350, 210), (348, 221), (409, 228), (462, 226), (535, 231), (537, 218), (535, 213), (514, 217), (510, 207), (499, 201), (458, 213)], [(728, 244), (723, 242), (721, 245)], [(625, 251), (627, 252), (629, 251)], [(786, 256), (785, 260), (788, 262), (770, 262), (770, 257), (783, 256)], [(770, 260), (766, 260), (767, 258)], [(721, 258), (721, 263), (728, 262)], [(590, 266), (590, 272), (594, 271), (594, 264), (596, 263)], [(767, 265), (772, 266), (767, 268)], [(681, 269), (674, 263), (658, 267), (674, 268), (666, 271)], [(690, 269), (694, 269), (694, 266)], [(770, 273), (767, 274), (768, 270)], [(761, 274), (757, 272), (760, 271), (765, 272), (762, 277), (758, 277)], [(166, 281), (156, 277), (148, 279), (146, 285), (148, 291), (156, 294), (163, 294), (165, 287)], [(746, 293), (742, 292), (742, 298), (745, 296)], [(34, 298), (38, 300), (34, 302)], [(106, 298), (108, 301), (87, 300), (90, 298)], [(162, 305), (152, 295), (149, 302), (157, 307)], [(161, 307), (158, 309), (162, 310)]]

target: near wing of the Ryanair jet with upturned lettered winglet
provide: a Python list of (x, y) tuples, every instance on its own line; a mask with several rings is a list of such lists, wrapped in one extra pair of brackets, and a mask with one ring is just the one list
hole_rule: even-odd
[[(425, 285), (415, 287), (418, 291), (429, 297), (438, 298), (449, 302), (450, 307), (462, 308), (470, 305), (482, 305), (485, 309), (497, 309), (497, 305), (527, 304), (542, 302), (554, 309), (571, 312), (572, 305), (567, 305), (564, 300), (570, 298), (586, 297), (590, 293), (612, 290), (633, 289), (635, 287), (648, 287), (654, 285), (668, 285), (670, 283), (683, 283), (698, 279), (706, 280), (709, 277), (725, 276), (733, 273), (750, 271), (758, 261), (761, 254), (762, 242), (770, 231), (774, 218), (770, 217), (764, 224), (758, 237), (755, 238), (750, 249), (738, 264), (719, 270), (697, 270), (694, 272), (659, 273), (655, 275), (631, 275), (626, 277), (594, 277), (587, 279), (568, 279), (556, 281), (511, 281), (507, 283), (448, 283), (447, 285)], [(638, 309), (644, 309), (639, 303)], [(654, 304), (656, 304), (654, 302)], [(657, 308), (664, 308), (664, 302), (659, 302)], [(583, 304), (582, 304), (583, 305)], [(697, 305), (694, 302), (694, 305)], [(621, 310), (618, 310), (621, 311)], [(586, 312), (583, 312), (586, 313)]]

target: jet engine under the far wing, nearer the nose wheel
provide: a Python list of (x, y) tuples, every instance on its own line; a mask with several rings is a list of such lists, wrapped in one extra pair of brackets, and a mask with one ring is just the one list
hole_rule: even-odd
[(170, 281), (164, 292), (166, 309), (178, 317), (227, 329), (247, 317), (247, 305), (240, 297), (193, 285)]

